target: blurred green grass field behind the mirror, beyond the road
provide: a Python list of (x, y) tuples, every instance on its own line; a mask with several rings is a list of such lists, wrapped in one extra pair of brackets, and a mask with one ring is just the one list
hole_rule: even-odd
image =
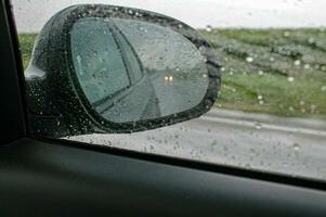
[[(201, 30), (222, 67), (219, 107), (326, 117), (325, 29)], [(19, 35), (26, 68), (37, 35)]]

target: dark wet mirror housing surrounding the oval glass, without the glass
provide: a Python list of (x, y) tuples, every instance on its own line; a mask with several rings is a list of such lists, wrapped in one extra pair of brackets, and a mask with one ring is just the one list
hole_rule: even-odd
[[(146, 22), (186, 38), (206, 61), (208, 86), (203, 100), (188, 110), (156, 118), (125, 123), (103, 118), (80, 87), (73, 64), (70, 31), (76, 22), (87, 17)], [(74, 5), (56, 13), (38, 36), (25, 77), (31, 133), (51, 138), (95, 132), (129, 133), (196, 118), (213, 105), (221, 85), (217, 54), (196, 30), (161, 14), (103, 4)]]

